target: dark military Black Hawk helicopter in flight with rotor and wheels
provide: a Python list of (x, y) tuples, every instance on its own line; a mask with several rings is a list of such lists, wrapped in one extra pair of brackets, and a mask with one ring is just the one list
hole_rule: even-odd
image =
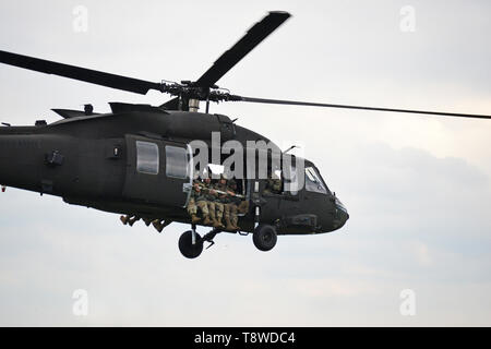
[[(191, 160), (195, 155), (192, 141), (201, 140), (212, 145), (212, 133), (215, 132), (219, 134), (220, 145), (233, 140), (244, 152), (248, 141), (270, 143), (266, 137), (241, 128), (226, 116), (208, 113), (209, 101), (491, 118), (252, 98), (232, 95), (215, 85), (289, 16), (286, 12), (270, 12), (200, 79), (181, 83), (148, 82), (0, 51), (2, 63), (143, 95), (155, 89), (175, 96), (159, 107), (111, 103), (110, 113), (95, 113), (89, 105), (83, 111), (53, 109), (63, 120), (50, 124), (43, 120), (36, 121), (34, 127), (3, 123), (0, 128), (0, 183), (61, 196), (69, 204), (123, 214), (123, 221), (130, 225), (139, 218), (147, 225), (157, 220), (159, 230), (172, 221), (191, 224), (192, 229), (179, 239), (179, 248), (184, 256), (192, 258), (202, 253), (205, 241), (213, 244), (217, 233), (227, 231), (214, 228), (201, 237), (185, 209), (195, 170)], [(200, 101), (206, 101), (205, 113), (197, 112)], [(272, 148), (279, 149), (274, 144)], [(268, 156), (272, 148), (266, 152)], [(259, 153), (254, 149), (253, 154), (258, 157)], [(220, 157), (218, 163), (221, 160)], [(248, 203), (239, 220), (239, 232), (253, 232), (253, 242), (262, 251), (275, 245), (277, 234), (330, 232), (343, 227), (349, 218), (347, 209), (328, 190), (313, 163), (295, 158), (289, 166), (300, 160), (304, 184), (296, 190), (286, 190), (291, 178), (284, 174), (278, 176), (276, 191), (267, 190), (270, 178), (247, 177), (236, 181), (236, 194)], [(288, 172), (288, 168), (282, 169), (282, 173)], [(272, 177), (275, 171), (270, 166), (266, 177)]]

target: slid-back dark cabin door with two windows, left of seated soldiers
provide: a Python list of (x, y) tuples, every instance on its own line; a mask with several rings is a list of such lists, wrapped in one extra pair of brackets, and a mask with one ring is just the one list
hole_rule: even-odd
[(184, 143), (127, 135), (123, 196), (148, 204), (184, 207), (191, 188), (190, 147)]

